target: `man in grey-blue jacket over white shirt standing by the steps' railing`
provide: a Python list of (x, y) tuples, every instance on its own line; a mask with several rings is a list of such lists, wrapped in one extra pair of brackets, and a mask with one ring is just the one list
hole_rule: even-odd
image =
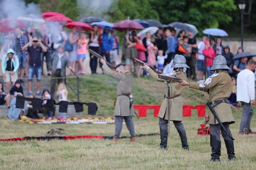
[(66, 67), (72, 70), (70, 66), (69, 58), (64, 53), (63, 45), (59, 45), (58, 51), (53, 53), (50, 61), (50, 69), (52, 71), (51, 80), (51, 96), (54, 98), (56, 79), (58, 79), (58, 85), (63, 82), (63, 78), (66, 75)]

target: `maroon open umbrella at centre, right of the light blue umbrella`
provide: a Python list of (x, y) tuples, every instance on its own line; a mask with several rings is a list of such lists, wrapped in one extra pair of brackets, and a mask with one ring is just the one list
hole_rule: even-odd
[(129, 19), (117, 22), (112, 28), (115, 30), (118, 30), (118, 31), (143, 30), (144, 29), (144, 27), (139, 22), (129, 20)]

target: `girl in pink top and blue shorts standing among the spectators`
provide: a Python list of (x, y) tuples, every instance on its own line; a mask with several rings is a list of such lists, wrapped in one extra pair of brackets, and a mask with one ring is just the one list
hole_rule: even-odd
[(80, 74), (86, 74), (86, 72), (84, 71), (84, 59), (85, 59), (85, 55), (87, 53), (87, 45), (88, 45), (89, 40), (86, 39), (86, 33), (82, 32), (80, 35), (80, 39), (78, 40), (78, 50), (77, 50), (77, 54), (78, 54), (78, 62), (80, 64)]

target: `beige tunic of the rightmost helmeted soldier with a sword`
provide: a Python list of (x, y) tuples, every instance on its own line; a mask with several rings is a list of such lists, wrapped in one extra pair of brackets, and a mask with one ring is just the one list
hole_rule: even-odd
[[(199, 84), (190, 82), (189, 88), (194, 88), (199, 90)], [(209, 98), (210, 103), (216, 100), (223, 100), (229, 98), (232, 92), (232, 80), (228, 75), (227, 71), (221, 71), (219, 74), (212, 78), (212, 82), (205, 86), (206, 91), (209, 89)], [(214, 103), (213, 105), (214, 106)], [(218, 118), (221, 120), (222, 123), (229, 122), (232, 124), (235, 122), (230, 105), (227, 103), (221, 103), (218, 106), (213, 108), (216, 112)], [(209, 121), (204, 122), (204, 124), (218, 124), (219, 122), (215, 119), (214, 115), (208, 109), (206, 115), (209, 115)]]

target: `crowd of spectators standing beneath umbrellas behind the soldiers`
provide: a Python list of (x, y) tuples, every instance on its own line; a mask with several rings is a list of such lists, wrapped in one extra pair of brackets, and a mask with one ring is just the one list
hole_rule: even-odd
[[(70, 75), (86, 74), (84, 60), (87, 49), (91, 49), (100, 54), (107, 62), (116, 66), (119, 54), (119, 38), (110, 27), (100, 28), (97, 25), (92, 26), (93, 31), (78, 32), (76, 27), (67, 34), (63, 31), (62, 24), (55, 29), (47, 27), (47, 24), (39, 26), (35, 24), (22, 32), (17, 27), (15, 32), (10, 32), (4, 41), (4, 51), (6, 55), (2, 58), (2, 73), (4, 83), (6, 83), (6, 94), (14, 95), (19, 87), (22, 88), (24, 75), (28, 76), (28, 96), (33, 93), (41, 96), (41, 79), (43, 74), (43, 61), (46, 61), (48, 76), (51, 76), (51, 88), (44, 93), (54, 98), (56, 81), (58, 85), (63, 83), (66, 77), (66, 67), (70, 70)], [(176, 30), (171, 28), (159, 29), (155, 34), (147, 32), (142, 39), (137, 36), (137, 31), (125, 32), (123, 49), (121, 54), (121, 63), (125, 65), (126, 70), (130, 70), (140, 78), (143, 74), (147, 77), (146, 70), (138, 67), (134, 63), (134, 58), (147, 62), (149, 65), (165, 73), (165, 66), (170, 64), (175, 54), (181, 54), (186, 58), (187, 65), (190, 68), (184, 69), (187, 78), (191, 80), (202, 80), (204, 75), (210, 77), (213, 72), (210, 67), (217, 55), (223, 55), (226, 58), (227, 66), (231, 68), (229, 74), (236, 81), (238, 73), (244, 70), (247, 65), (247, 57), (233, 60), (234, 54), (230, 52), (228, 45), (223, 46), (222, 39), (216, 39), (203, 36), (197, 44), (193, 32), (181, 30), (176, 34)], [(72, 50), (67, 50), (66, 45), (70, 44)], [(66, 51), (66, 52), (65, 52)], [(240, 47), (237, 53), (243, 52)], [(90, 54), (91, 73), (97, 73), (98, 58)], [(45, 58), (45, 59), (44, 59)], [(18, 75), (19, 73), (19, 75)], [(102, 70), (103, 73), (103, 70)], [(37, 79), (37, 91), (32, 91), (33, 75)], [(19, 77), (19, 78), (18, 78)], [(13, 87), (11, 89), (11, 84)], [(0, 83), (0, 86), (2, 83)], [(3, 85), (1, 94), (4, 94)], [(14, 89), (14, 90), (13, 90)], [(235, 91), (235, 90), (234, 90)], [(6, 96), (0, 96), (0, 105), (4, 103), (10, 107), (10, 100)], [(31, 112), (32, 113), (32, 112)], [(46, 113), (45, 113), (46, 114)], [(53, 115), (51, 115), (53, 116)]]

